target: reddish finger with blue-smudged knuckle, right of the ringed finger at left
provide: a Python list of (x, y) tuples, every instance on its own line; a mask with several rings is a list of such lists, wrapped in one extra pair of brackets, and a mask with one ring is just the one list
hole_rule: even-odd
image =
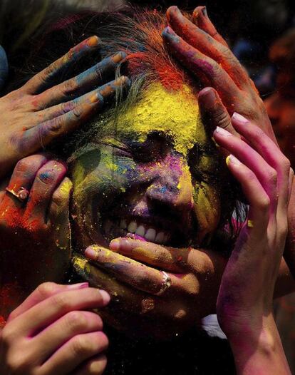
[(47, 222), (46, 216), (53, 192), (63, 180), (66, 171), (66, 165), (56, 160), (48, 161), (38, 170), (26, 205), (25, 217)]

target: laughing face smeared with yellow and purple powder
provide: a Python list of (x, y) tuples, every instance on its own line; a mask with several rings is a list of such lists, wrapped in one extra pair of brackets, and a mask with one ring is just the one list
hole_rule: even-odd
[(175, 247), (207, 240), (219, 222), (217, 156), (192, 91), (154, 83), (113, 126), (73, 165), (78, 246), (132, 233)]

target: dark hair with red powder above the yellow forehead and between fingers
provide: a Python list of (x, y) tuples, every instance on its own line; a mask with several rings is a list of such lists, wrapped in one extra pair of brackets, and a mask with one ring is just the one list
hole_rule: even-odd
[[(99, 134), (103, 124), (110, 120), (115, 123), (116, 116), (133, 106), (151, 83), (160, 81), (167, 90), (177, 90), (183, 83), (195, 87), (198, 85), (196, 79), (173, 60), (165, 48), (162, 29), (167, 26), (167, 21), (165, 13), (161, 11), (135, 7), (114, 12), (80, 11), (58, 20), (48, 17), (44, 25), (46, 27), (39, 27), (35, 36), (29, 39), (29, 45), (26, 47), (28, 57), (25, 63), (22, 66), (14, 66), (15, 76), (11, 88), (20, 86), (34, 73), (41, 71), (48, 66), (48, 63), (66, 53), (71, 46), (92, 35), (98, 35), (102, 41), (99, 52), (78, 61), (74, 70), (68, 71), (61, 79), (64, 80), (67, 76), (73, 76), (75, 72), (85, 70), (96, 63), (98, 58), (108, 57), (117, 51), (125, 51), (127, 63), (119, 66), (116, 74), (125, 73), (132, 82), (127, 96), (123, 92), (118, 92), (113, 106), (107, 108), (88, 125), (84, 125), (83, 129), (77, 130), (67, 140), (63, 140), (63, 145), (60, 143), (55, 148), (55, 151), (62, 154), (64, 158), (69, 157), (68, 160), (78, 158), (95, 147), (91, 140)], [(219, 163), (219, 170), (222, 168)], [(222, 217), (217, 232), (219, 230), (222, 232), (222, 228), (227, 224), (232, 244), (232, 240), (237, 235), (237, 227), (232, 226), (233, 210), (236, 210), (237, 217), (240, 217), (237, 203), (238, 189), (229, 174), (227, 178), (219, 178), (213, 183), (218, 186), (222, 197)], [(229, 242), (225, 247), (229, 249)]]

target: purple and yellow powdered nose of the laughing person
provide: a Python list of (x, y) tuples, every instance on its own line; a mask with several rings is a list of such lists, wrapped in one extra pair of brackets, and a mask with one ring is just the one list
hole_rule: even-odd
[(192, 209), (192, 179), (187, 162), (181, 155), (168, 155), (156, 163), (145, 196), (149, 205), (173, 211)]

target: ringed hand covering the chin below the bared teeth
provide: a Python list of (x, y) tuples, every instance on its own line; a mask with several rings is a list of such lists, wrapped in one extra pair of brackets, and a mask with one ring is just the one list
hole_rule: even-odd
[(76, 256), (74, 267), (90, 284), (113, 296), (103, 312), (110, 322), (137, 335), (161, 338), (180, 334), (214, 312), (216, 279), (226, 263), (209, 250), (128, 237), (110, 242), (110, 250), (88, 247), (85, 256)]

